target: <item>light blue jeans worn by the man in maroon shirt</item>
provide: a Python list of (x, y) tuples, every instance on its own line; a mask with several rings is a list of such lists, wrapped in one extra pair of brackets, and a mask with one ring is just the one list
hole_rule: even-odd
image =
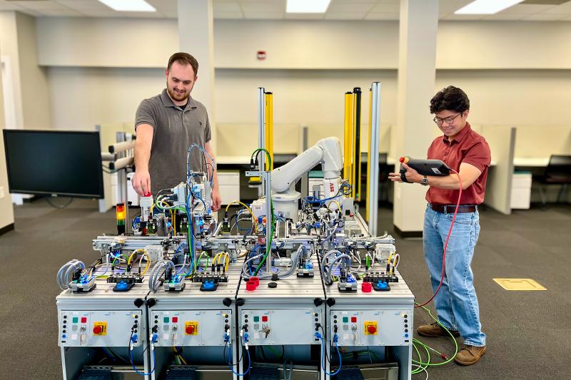
[[(442, 277), (442, 257), (454, 214), (426, 208), (424, 218), (424, 257), (433, 292)], [(458, 213), (446, 249), (446, 272), (442, 287), (434, 299), (438, 319), (447, 329), (458, 330), (465, 344), (485, 346), (486, 335), (480, 324), (480, 309), (470, 268), (477, 237), (480, 235), (478, 212)]]

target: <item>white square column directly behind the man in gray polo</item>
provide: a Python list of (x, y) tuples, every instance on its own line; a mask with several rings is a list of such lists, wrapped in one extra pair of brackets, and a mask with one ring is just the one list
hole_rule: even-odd
[(206, 106), (216, 153), (214, 115), (214, 16), (212, 0), (178, 0), (178, 38), (181, 51), (198, 61), (198, 81), (191, 96)]

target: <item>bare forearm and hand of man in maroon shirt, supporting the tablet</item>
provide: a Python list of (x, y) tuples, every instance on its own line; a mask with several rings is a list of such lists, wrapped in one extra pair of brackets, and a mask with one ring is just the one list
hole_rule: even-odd
[[(410, 168), (410, 166), (403, 164), (403, 168), (406, 169), (406, 179), (410, 183), (420, 183), (423, 180), (423, 175), (418, 174), (416, 170)], [(466, 190), (477, 180), (482, 174), (482, 171), (476, 168), (474, 165), (469, 163), (460, 164), (460, 178), (462, 179), (462, 188)], [(388, 178), (393, 182), (403, 182), (400, 178), (400, 173), (389, 173)], [(434, 186), (435, 188), (458, 190), (460, 189), (460, 180), (458, 180), (458, 175), (450, 174), (445, 177), (438, 177), (436, 175), (428, 175), (428, 185)]]

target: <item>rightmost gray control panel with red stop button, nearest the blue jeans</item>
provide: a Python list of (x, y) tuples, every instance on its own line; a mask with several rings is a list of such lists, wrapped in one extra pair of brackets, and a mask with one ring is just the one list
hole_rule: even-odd
[(330, 339), (339, 346), (408, 346), (413, 342), (408, 309), (331, 310)]

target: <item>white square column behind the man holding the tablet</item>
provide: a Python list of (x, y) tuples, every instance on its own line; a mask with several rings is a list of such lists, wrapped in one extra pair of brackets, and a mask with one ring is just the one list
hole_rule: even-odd
[[(435, 137), (429, 105), (435, 94), (437, 31), (438, 0), (400, 1), (398, 125), (391, 147), (395, 160), (402, 155), (426, 158)], [(426, 190), (395, 183), (393, 223), (405, 237), (423, 230)]]

